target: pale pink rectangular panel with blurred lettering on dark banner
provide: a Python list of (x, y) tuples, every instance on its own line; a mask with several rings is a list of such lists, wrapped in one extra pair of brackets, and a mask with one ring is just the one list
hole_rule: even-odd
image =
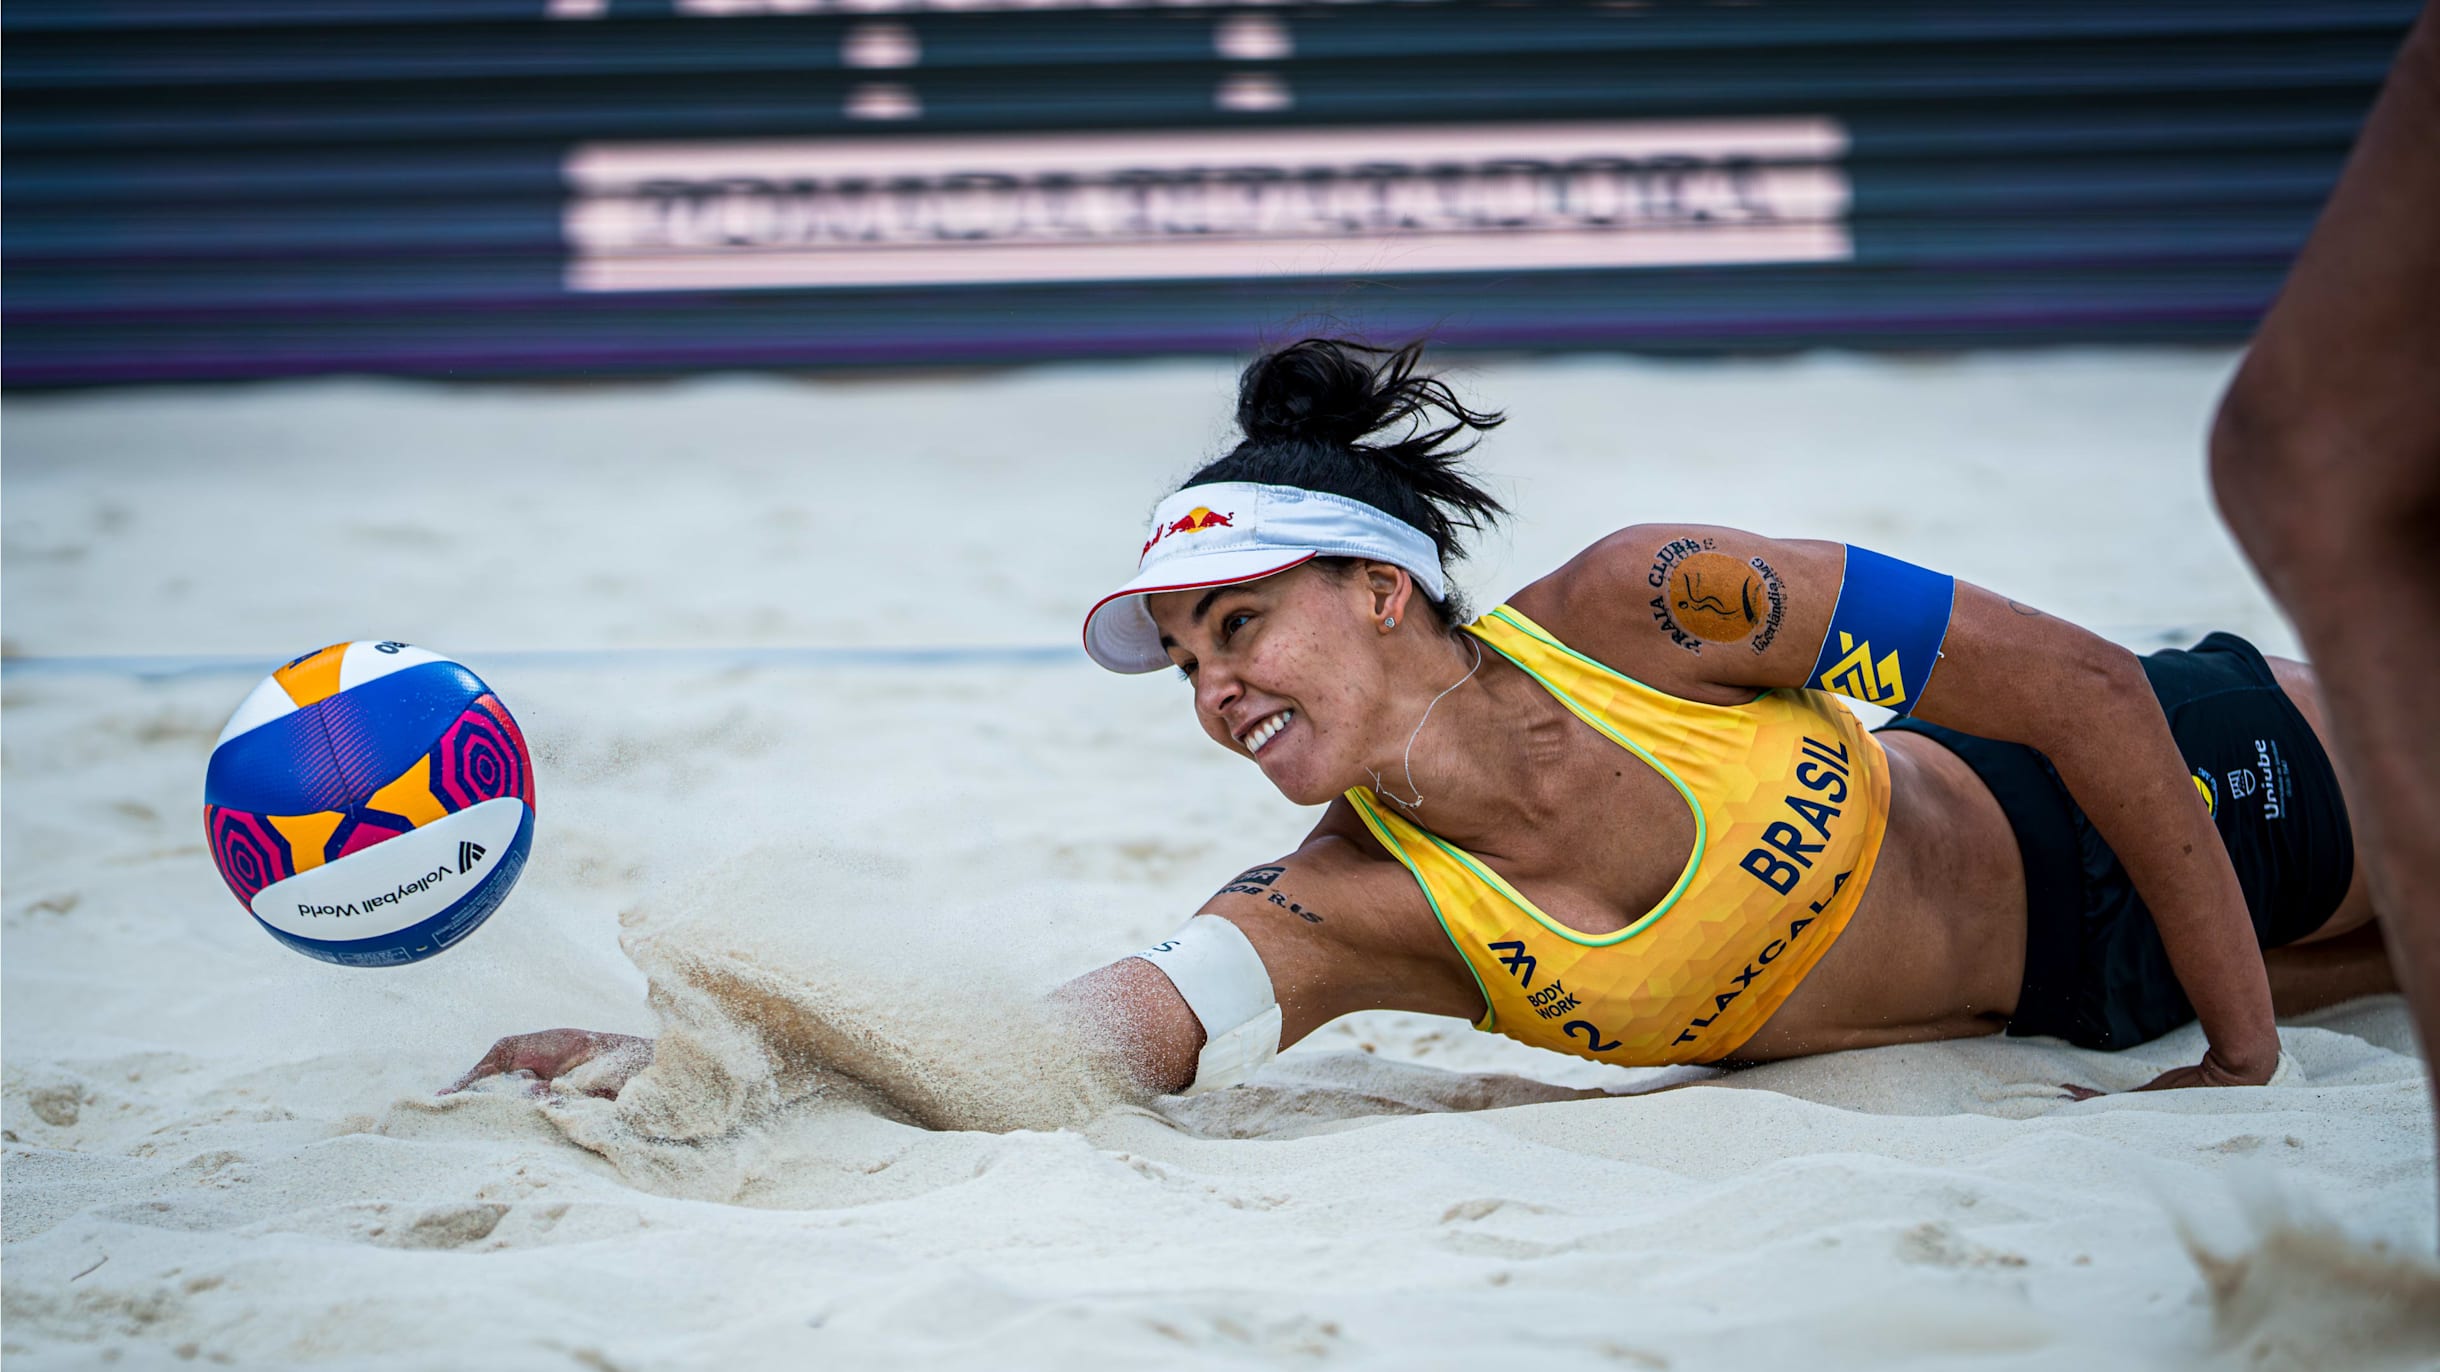
[(586, 144), (573, 291), (1845, 261), (1837, 120)]

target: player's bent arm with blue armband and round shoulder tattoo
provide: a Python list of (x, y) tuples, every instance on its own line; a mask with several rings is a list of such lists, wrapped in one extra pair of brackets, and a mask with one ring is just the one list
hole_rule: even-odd
[(2155, 1086), (2277, 1072), (2245, 891), (2135, 654), (1862, 547), (1708, 525), (1620, 530), (1576, 559), (1566, 586), (1571, 625), (1613, 625), (1625, 659), (1693, 698), (1813, 686), (2047, 754), (2152, 908), (2211, 1040), (2201, 1067)]

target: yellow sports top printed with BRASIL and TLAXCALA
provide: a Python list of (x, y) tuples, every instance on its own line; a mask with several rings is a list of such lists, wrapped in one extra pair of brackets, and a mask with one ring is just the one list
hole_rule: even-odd
[(1371, 789), (1347, 791), (1474, 969), (1488, 1006), (1474, 1028), (1623, 1067), (1735, 1055), (1864, 898), (1889, 828), (1881, 740), (1823, 691), (1764, 691), (1745, 706), (1681, 701), (1569, 649), (1508, 605), (1466, 632), (1667, 776), (1693, 811), (1693, 852), (1676, 886), (1627, 928), (1591, 935), (1545, 915)]

